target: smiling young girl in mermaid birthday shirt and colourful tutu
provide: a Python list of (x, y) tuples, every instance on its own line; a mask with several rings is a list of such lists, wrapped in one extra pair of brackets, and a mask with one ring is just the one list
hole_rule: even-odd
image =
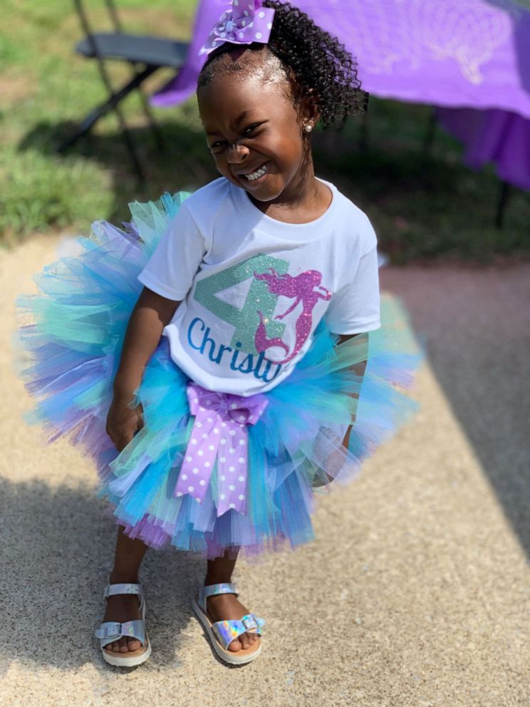
[(380, 327), (376, 238), (311, 157), (316, 125), (364, 104), (353, 58), (276, 0), (232, 0), (202, 51), (221, 177), (133, 205), (125, 230), (97, 222), (23, 303), (38, 419), (93, 455), (119, 526), (95, 632), (118, 666), (150, 655), (138, 572), (167, 542), (207, 558), (193, 607), (217, 654), (259, 655), (239, 550), (312, 539), (313, 487), (355, 475), (407, 409), (393, 383), (414, 367), (375, 332), (355, 420)]

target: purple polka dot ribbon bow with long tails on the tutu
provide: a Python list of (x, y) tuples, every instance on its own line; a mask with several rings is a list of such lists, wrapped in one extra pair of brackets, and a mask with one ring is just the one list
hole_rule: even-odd
[(194, 425), (189, 437), (174, 495), (191, 495), (202, 503), (217, 460), (217, 515), (233, 508), (246, 513), (246, 478), (249, 460), (247, 425), (255, 425), (267, 400), (214, 393), (188, 383), (189, 411)]

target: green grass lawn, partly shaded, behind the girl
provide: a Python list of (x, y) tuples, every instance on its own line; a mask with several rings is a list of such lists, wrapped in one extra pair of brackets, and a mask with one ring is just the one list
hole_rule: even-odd
[[(175, 38), (189, 36), (195, 0), (118, 0), (125, 28)], [(103, 0), (88, 3), (94, 25), (105, 28)], [(76, 121), (105, 99), (92, 61), (73, 54), (81, 36), (71, 0), (0, 0), (0, 243), (47, 229), (86, 232), (95, 218), (120, 222), (127, 203), (165, 190), (193, 189), (216, 176), (194, 100), (154, 110), (165, 139), (155, 147), (138, 96), (123, 110), (147, 182), (139, 187), (114, 115), (100, 120), (68, 155), (56, 145)], [(108, 26), (108, 24), (107, 24)], [(110, 65), (115, 86), (128, 71)], [(154, 91), (170, 71), (152, 77)], [(504, 229), (494, 227), (499, 182), (492, 170), (462, 165), (456, 141), (437, 130), (423, 148), (430, 109), (370, 99), (368, 138), (360, 120), (342, 133), (315, 135), (317, 172), (336, 184), (373, 220), (393, 262), (457, 257), (488, 262), (530, 252), (530, 195), (512, 190)]]

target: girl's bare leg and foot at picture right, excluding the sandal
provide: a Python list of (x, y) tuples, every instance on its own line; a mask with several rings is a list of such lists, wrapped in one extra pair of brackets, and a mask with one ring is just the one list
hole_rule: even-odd
[[(236, 560), (237, 557), (230, 558), (227, 553), (224, 554), (224, 557), (208, 560), (204, 586), (231, 582)], [(208, 597), (206, 608), (211, 621), (241, 619), (242, 616), (249, 613), (249, 610), (237, 600), (235, 594), (216, 594), (214, 597)], [(256, 641), (257, 637), (256, 634), (251, 633), (241, 634), (239, 639), (235, 639), (229, 644), (228, 649), (229, 651), (246, 649)]]

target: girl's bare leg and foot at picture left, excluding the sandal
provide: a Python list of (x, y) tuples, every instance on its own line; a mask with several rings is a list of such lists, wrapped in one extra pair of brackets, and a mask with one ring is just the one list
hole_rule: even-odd
[[(138, 570), (147, 550), (147, 545), (141, 540), (131, 540), (123, 532), (123, 526), (118, 526), (118, 537), (114, 555), (114, 567), (110, 572), (109, 584), (138, 582)], [(107, 599), (107, 609), (103, 621), (134, 621), (140, 619), (137, 594), (114, 594)], [(105, 648), (111, 651), (127, 653), (141, 646), (137, 639), (122, 636), (119, 641), (108, 644)]]

